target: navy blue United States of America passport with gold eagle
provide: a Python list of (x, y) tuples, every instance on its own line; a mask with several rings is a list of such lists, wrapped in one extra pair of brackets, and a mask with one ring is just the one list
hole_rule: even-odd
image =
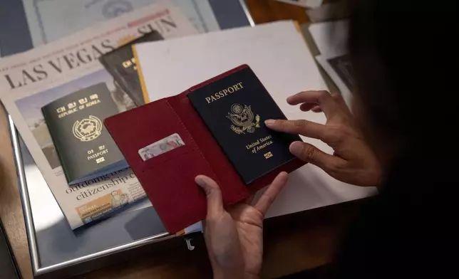
[(192, 90), (188, 98), (245, 184), (294, 159), (289, 145), (301, 138), (264, 125), (287, 118), (249, 67)]

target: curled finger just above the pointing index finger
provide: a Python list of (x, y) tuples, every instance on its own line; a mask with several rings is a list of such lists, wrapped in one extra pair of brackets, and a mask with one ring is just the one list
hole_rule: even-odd
[(336, 102), (327, 91), (303, 91), (287, 98), (290, 105), (298, 105), (301, 103), (313, 103), (319, 105), (326, 117), (336, 111)]

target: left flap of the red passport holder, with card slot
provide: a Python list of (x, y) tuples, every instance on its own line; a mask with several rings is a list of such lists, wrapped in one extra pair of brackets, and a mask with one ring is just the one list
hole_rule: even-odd
[[(179, 231), (184, 228), (183, 220), (191, 225), (205, 216), (205, 194), (195, 177), (204, 174), (220, 181), (167, 99), (108, 117), (105, 125), (159, 216), (167, 220), (163, 222), (167, 231)], [(139, 149), (175, 133), (185, 145), (145, 161), (138, 154)]]

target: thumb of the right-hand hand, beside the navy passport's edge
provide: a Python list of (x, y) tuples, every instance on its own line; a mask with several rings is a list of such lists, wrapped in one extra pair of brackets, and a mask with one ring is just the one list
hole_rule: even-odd
[(336, 169), (337, 165), (344, 163), (343, 159), (326, 154), (320, 149), (314, 147), (314, 145), (306, 142), (292, 142), (289, 150), (299, 159), (304, 162), (315, 164), (317, 167), (324, 169), (327, 173)]

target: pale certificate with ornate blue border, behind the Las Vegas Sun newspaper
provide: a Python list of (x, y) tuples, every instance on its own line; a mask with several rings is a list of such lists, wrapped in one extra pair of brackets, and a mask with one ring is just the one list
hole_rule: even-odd
[[(100, 21), (160, 0), (22, 0), (33, 46), (50, 43)], [(208, 0), (171, 0), (200, 32), (218, 31)]]

